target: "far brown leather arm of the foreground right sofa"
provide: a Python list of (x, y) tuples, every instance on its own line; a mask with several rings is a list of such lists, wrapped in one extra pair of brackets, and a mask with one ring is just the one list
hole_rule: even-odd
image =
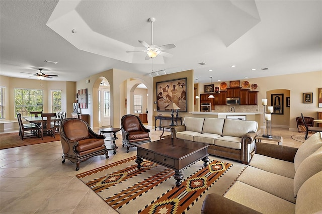
[(268, 143), (256, 143), (255, 153), (259, 155), (265, 155), (268, 157), (294, 162), (294, 157), (297, 152), (297, 148), (282, 146), (277, 144)]

